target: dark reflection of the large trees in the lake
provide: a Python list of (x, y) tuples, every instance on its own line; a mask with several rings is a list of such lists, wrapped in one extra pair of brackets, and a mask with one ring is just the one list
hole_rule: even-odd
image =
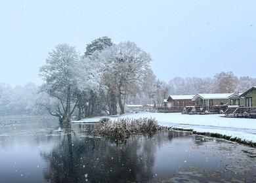
[[(152, 139), (156, 142), (156, 140)], [(76, 138), (66, 129), (51, 153), (42, 154), (49, 182), (146, 182), (152, 178), (156, 145), (144, 138), (121, 144), (106, 138)]]

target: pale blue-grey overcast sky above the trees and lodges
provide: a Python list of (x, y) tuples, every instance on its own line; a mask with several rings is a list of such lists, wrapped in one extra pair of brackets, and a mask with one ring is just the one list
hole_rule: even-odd
[(0, 82), (35, 82), (59, 43), (85, 46), (102, 36), (136, 42), (156, 76), (256, 77), (256, 1), (1, 1)]

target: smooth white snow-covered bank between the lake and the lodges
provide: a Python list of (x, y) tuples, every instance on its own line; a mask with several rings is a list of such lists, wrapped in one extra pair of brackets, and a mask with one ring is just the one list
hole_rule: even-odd
[[(144, 118), (152, 117), (158, 120), (158, 124), (184, 129), (194, 129), (198, 132), (219, 133), (231, 137), (238, 137), (245, 141), (256, 142), (256, 119), (223, 118), (224, 114), (188, 115), (181, 113), (156, 113), (142, 112), (137, 114), (125, 114), (117, 118)], [(77, 122), (97, 122), (100, 117), (88, 118)]]

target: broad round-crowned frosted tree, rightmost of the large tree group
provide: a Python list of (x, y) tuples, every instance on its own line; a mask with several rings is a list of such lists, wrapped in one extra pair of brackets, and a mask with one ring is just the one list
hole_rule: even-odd
[(120, 113), (123, 114), (127, 95), (139, 90), (152, 59), (134, 42), (121, 42), (103, 50), (100, 60), (105, 63), (102, 82), (108, 88), (110, 101), (114, 107), (117, 97)]

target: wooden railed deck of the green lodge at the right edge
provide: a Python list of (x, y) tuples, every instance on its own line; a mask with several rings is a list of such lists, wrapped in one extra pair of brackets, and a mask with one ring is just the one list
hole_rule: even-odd
[(256, 118), (256, 107), (228, 107), (225, 116), (230, 118)]

